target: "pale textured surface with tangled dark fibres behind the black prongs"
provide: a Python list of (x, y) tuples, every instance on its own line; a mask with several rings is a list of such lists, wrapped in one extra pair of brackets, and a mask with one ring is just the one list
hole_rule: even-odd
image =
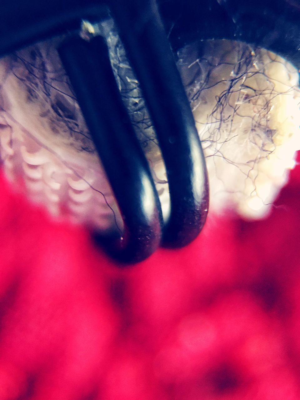
[[(153, 171), (163, 212), (168, 184), (138, 82), (118, 36), (106, 30), (112, 67)], [(122, 226), (72, 87), (60, 38), (0, 61), (1, 158), (9, 180), (60, 218), (106, 230)], [(264, 216), (300, 148), (298, 72), (263, 49), (226, 40), (176, 55), (202, 140), (213, 212)]]

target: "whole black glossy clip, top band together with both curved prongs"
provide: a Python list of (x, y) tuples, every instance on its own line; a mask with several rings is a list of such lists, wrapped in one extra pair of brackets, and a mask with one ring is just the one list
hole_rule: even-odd
[[(0, 56), (68, 33), (59, 48), (60, 58), (124, 220), (122, 237), (102, 240), (111, 256), (138, 262), (160, 244), (184, 246), (196, 238), (206, 220), (206, 164), (173, 52), (195, 40), (226, 38), (273, 50), (299, 68), (297, 4), (288, 0), (263, 0), (259, 7), (254, 0), (12, 0), (1, 4)], [(88, 32), (87, 40), (80, 37), (82, 20), (93, 26), (108, 14), (140, 83), (166, 166), (170, 216), (165, 223), (148, 162), (120, 97), (107, 44), (93, 32)]]

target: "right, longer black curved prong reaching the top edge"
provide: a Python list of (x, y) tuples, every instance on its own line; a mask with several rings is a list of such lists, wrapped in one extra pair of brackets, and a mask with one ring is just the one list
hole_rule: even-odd
[(163, 241), (184, 246), (199, 234), (208, 212), (206, 163), (192, 110), (156, 2), (111, 3), (166, 166), (171, 210)]

